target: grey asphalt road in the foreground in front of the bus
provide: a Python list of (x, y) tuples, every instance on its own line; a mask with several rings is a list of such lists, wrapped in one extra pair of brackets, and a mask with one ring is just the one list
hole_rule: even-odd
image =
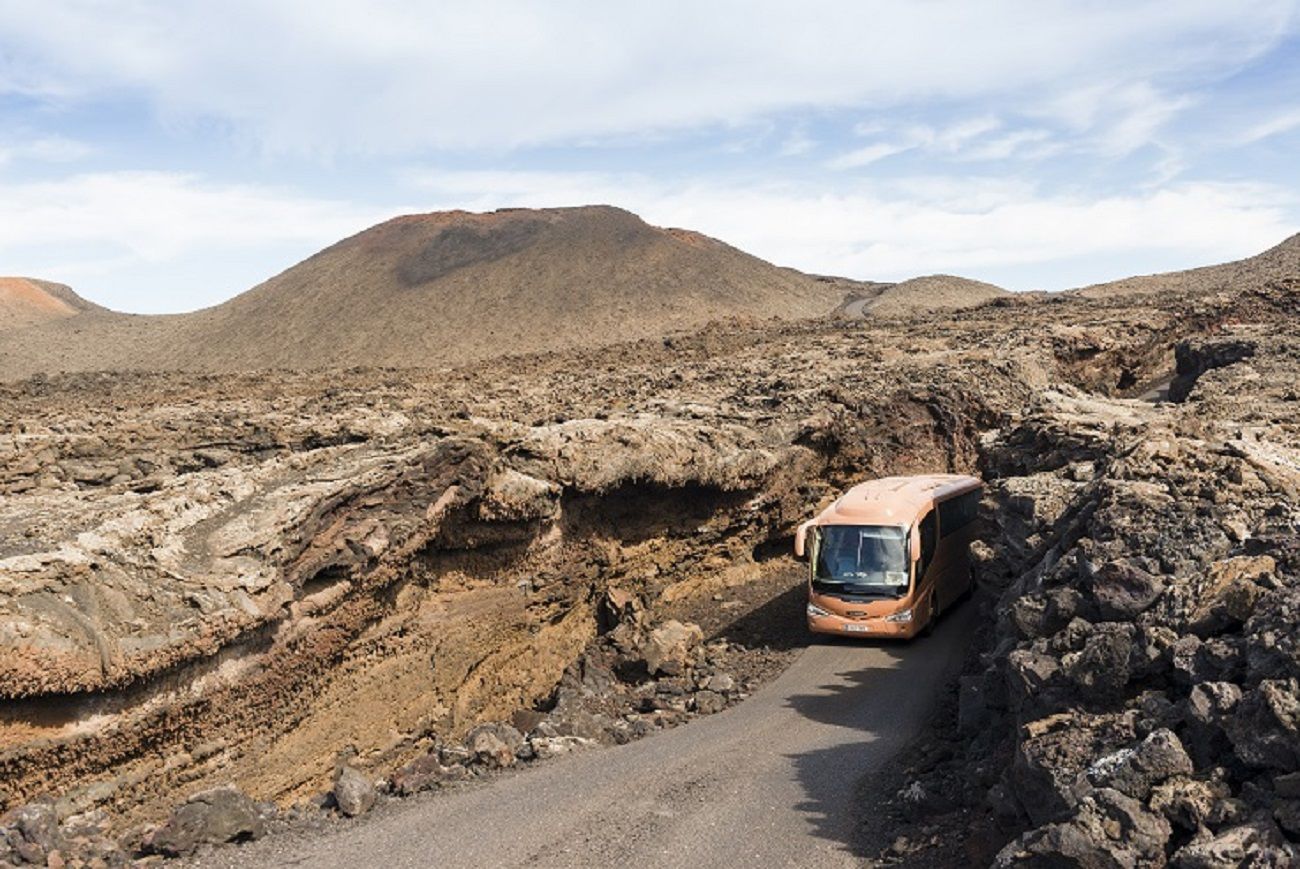
[(920, 732), (975, 608), (907, 645), (814, 643), (716, 715), (395, 803), (209, 866), (852, 866), (858, 788)]

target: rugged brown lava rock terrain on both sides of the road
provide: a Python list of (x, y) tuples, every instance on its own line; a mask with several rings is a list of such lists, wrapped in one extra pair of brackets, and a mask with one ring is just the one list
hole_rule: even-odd
[[(718, 251), (615, 224), (646, 256)], [(322, 261), (426, 230), (381, 229)], [(419, 293), (473, 268), (411, 250)], [(874, 804), (907, 831), (885, 857), (1286, 865), (1300, 281), (1266, 256), (1208, 289), (441, 369), (9, 380), (0, 861), (188, 853), (719, 713), (800, 654), (798, 520), (863, 477), (965, 471), (989, 483), (978, 639)], [(777, 272), (771, 298), (805, 286)], [(276, 298), (237, 302), (274, 323)]]

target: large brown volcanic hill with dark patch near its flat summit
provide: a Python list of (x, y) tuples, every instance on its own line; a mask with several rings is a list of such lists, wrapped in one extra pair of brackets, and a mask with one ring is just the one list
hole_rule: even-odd
[(398, 217), (213, 308), (22, 329), (0, 376), (420, 367), (829, 312), (831, 285), (606, 206)]

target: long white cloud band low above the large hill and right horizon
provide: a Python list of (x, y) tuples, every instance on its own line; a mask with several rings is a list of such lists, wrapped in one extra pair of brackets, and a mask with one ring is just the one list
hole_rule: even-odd
[[(942, 177), (838, 183), (833, 191), (710, 180), (666, 189), (645, 177), (599, 173), (428, 172), (412, 181), (436, 202), (468, 200), (478, 209), (619, 204), (783, 265), (875, 280), (978, 277), (1080, 258), (1173, 255), (1201, 265), (1256, 254), (1294, 233), (1296, 207), (1292, 194), (1248, 183), (1089, 198), (1043, 194), (1019, 181)], [(1065, 289), (1071, 273), (1062, 267), (1066, 284), (1053, 289)]]

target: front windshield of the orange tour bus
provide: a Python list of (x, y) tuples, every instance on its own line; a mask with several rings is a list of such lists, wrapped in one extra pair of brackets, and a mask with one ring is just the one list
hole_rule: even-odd
[(898, 597), (907, 591), (907, 529), (898, 526), (820, 526), (812, 587)]

